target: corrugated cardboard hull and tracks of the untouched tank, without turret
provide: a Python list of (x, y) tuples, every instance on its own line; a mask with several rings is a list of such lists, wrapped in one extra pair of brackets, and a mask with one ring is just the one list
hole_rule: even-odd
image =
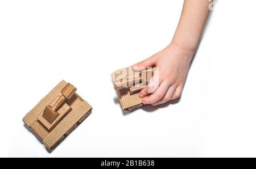
[[(23, 118), (24, 124), (35, 134), (36, 137), (46, 146), (48, 151), (52, 151), (57, 147), (84, 117), (88, 117), (92, 111), (92, 107), (83, 100), (78, 94), (74, 94), (65, 104), (71, 107), (71, 111), (61, 116), (56, 121), (55, 126), (47, 128), (47, 122), (42, 122), (42, 113), (47, 105), (50, 105), (57, 97), (61, 96), (61, 91), (67, 85), (65, 81), (61, 81), (51, 92), (49, 92), (27, 115)], [(51, 125), (51, 124), (48, 124)]]

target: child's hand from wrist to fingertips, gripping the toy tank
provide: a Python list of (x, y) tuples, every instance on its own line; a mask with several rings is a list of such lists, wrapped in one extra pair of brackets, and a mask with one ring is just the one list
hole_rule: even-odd
[[(170, 44), (154, 56), (133, 65), (134, 71), (159, 68), (159, 82), (150, 81), (139, 96), (144, 104), (158, 105), (180, 97), (194, 52)], [(154, 77), (152, 77), (154, 79)], [(158, 85), (159, 84), (159, 85)], [(147, 96), (152, 93), (150, 96)]]

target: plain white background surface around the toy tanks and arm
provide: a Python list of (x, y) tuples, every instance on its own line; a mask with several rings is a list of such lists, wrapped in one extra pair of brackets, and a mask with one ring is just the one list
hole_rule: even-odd
[[(123, 115), (110, 79), (166, 47), (183, 1), (0, 1), (1, 140), (10, 157), (256, 157), (253, 0), (218, 1), (178, 103)], [(49, 154), (22, 118), (62, 79), (93, 107)]]

